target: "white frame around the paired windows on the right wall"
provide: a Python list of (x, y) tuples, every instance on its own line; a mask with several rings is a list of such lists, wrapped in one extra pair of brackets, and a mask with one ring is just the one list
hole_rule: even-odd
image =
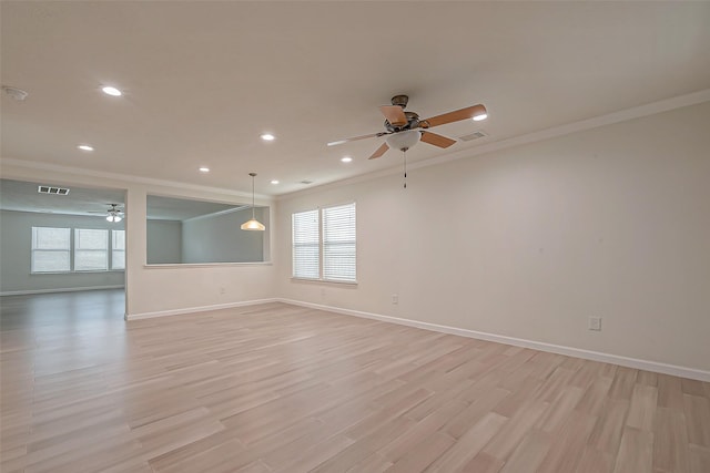
[[(326, 277), (325, 276), (325, 247), (327, 244), (333, 245), (333, 241), (325, 241), (325, 230), (324, 230), (324, 225), (325, 225), (325, 218), (324, 215), (328, 209), (333, 209), (333, 208), (337, 208), (337, 207), (351, 207), (353, 208), (353, 233), (354, 233), (354, 240), (352, 240), (352, 245), (354, 245), (354, 253), (353, 253), (353, 273), (354, 273), (354, 278), (338, 278), (338, 277)], [(318, 241), (317, 241), (317, 273), (318, 276), (317, 277), (304, 277), (304, 276), (296, 276), (296, 240), (295, 240), (295, 218), (297, 215), (303, 215), (303, 214), (311, 214), (311, 213), (316, 213), (316, 218), (317, 218), (317, 236), (318, 236)], [(328, 282), (328, 284), (345, 284), (345, 285), (357, 285), (357, 205), (355, 202), (348, 202), (345, 204), (335, 204), (335, 205), (327, 205), (327, 206), (318, 206), (315, 208), (311, 208), (311, 209), (305, 209), (305, 210), (301, 210), (301, 212), (294, 212), (291, 214), (291, 260), (292, 260), (292, 267), (291, 267), (291, 278), (295, 279), (295, 280), (303, 280), (303, 281), (315, 281), (315, 282)]]

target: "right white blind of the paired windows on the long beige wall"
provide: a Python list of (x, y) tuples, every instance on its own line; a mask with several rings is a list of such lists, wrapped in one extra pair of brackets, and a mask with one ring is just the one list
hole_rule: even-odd
[(323, 209), (323, 279), (355, 279), (355, 204)]

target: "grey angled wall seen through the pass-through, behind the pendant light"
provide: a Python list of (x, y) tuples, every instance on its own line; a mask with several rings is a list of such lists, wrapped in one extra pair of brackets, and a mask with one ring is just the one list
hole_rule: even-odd
[[(261, 208), (255, 209), (255, 216), (257, 220), (266, 222)], [(263, 261), (264, 234), (240, 228), (250, 218), (251, 208), (184, 220), (182, 263)]]

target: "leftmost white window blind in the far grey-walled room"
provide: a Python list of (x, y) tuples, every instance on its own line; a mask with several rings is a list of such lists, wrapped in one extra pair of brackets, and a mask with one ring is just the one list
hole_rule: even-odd
[(69, 228), (32, 227), (32, 273), (71, 270)]

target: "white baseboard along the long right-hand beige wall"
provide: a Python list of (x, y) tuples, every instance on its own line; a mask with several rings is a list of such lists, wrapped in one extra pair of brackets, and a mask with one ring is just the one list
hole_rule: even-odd
[(565, 354), (568, 357), (582, 358), (585, 360), (600, 361), (604, 363), (619, 364), (621, 367), (635, 368), (639, 370), (653, 371), (657, 373), (671, 374), (680, 378), (690, 378), (699, 381), (710, 382), (710, 371), (694, 368), (679, 367), (676, 364), (660, 363), (657, 361), (640, 360), (637, 358), (621, 357), (599, 351), (582, 350), (580, 348), (565, 347), (560, 345), (545, 343), (540, 341), (526, 340), (521, 338), (506, 337), (495, 333), (486, 333), (475, 330), (459, 329), (456, 327), (440, 326), (437, 323), (422, 322), (417, 320), (402, 319), (398, 317), (382, 316), (378, 313), (363, 312), (359, 310), (342, 309), (339, 307), (323, 306), (320, 304), (303, 302), (293, 299), (275, 299), (280, 302), (292, 304), (294, 306), (308, 307), (312, 309), (326, 310), (329, 312), (343, 313), (346, 316), (363, 317), (366, 319), (381, 320), (384, 322), (398, 323), (407, 327), (415, 327), (443, 333), (457, 335), (460, 337), (476, 338), (479, 340), (494, 341), (497, 343), (511, 345), (515, 347), (530, 348), (550, 353)]

